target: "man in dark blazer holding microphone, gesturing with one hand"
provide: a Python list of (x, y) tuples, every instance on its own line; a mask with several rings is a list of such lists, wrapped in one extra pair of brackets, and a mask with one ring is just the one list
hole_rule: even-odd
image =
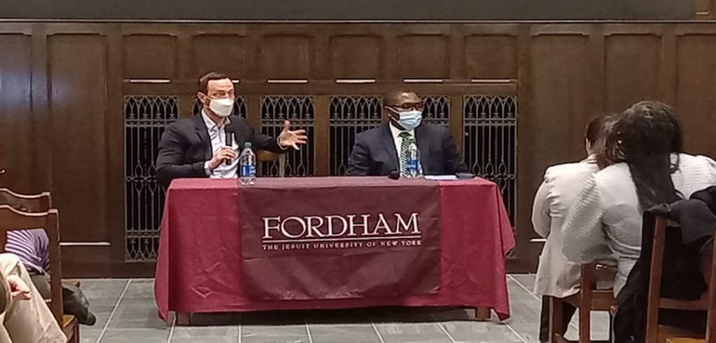
[[(285, 153), (306, 143), (306, 131), (284, 130), (278, 138), (255, 132), (245, 119), (231, 115), (236, 100), (233, 82), (225, 74), (210, 72), (199, 79), (200, 114), (169, 125), (159, 142), (157, 179), (165, 188), (175, 178), (236, 178), (238, 154), (245, 142), (256, 150)], [(233, 132), (228, 137), (226, 134)]]

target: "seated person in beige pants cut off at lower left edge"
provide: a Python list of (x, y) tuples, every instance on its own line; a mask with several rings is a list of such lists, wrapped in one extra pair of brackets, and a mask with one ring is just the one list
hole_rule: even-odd
[(64, 343), (52, 316), (20, 259), (0, 253), (0, 342)]

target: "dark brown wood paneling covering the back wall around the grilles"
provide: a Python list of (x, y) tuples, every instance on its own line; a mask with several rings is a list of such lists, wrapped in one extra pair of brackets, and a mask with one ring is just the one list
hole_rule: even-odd
[[(517, 92), (519, 245), (511, 265), (530, 271), (541, 248), (528, 243), (536, 236), (531, 198), (546, 166), (584, 156), (593, 115), (670, 100), (687, 152), (716, 155), (705, 125), (716, 119), (715, 61), (716, 23), (2, 23), (0, 168), (8, 173), (0, 184), (52, 191), (64, 241), (112, 244), (72, 248), (66, 271), (127, 276), (151, 267), (124, 264), (124, 95), (176, 95), (188, 116), (196, 77), (217, 69), (241, 79), (237, 92), (254, 126), (261, 96), (314, 95), (316, 125), (325, 130), (329, 95), (401, 87), (449, 96), (451, 129), (461, 132), (456, 100)], [(319, 173), (328, 136), (316, 135)]]

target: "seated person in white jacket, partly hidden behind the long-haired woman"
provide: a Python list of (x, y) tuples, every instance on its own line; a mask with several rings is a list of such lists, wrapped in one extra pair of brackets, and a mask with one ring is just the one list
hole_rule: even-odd
[[(547, 238), (537, 268), (535, 294), (542, 296), (540, 341), (548, 342), (549, 301), (548, 296), (566, 298), (579, 292), (580, 268), (567, 260), (562, 253), (561, 226), (575, 198), (592, 174), (604, 168), (604, 140), (609, 117), (596, 117), (586, 127), (587, 158), (579, 163), (565, 163), (547, 168), (544, 180), (535, 195), (532, 208), (532, 224), (538, 235)], [(571, 321), (576, 307), (564, 304), (563, 332)]]

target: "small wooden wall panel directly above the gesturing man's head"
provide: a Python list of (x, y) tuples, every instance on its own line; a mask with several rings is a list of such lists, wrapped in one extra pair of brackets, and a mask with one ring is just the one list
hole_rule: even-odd
[(244, 37), (230, 34), (200, 34), (191, 39), (193, 74), (198, 78), (207, 72), (224, 72), (233, 79), (245, 78), (243, 72)]

